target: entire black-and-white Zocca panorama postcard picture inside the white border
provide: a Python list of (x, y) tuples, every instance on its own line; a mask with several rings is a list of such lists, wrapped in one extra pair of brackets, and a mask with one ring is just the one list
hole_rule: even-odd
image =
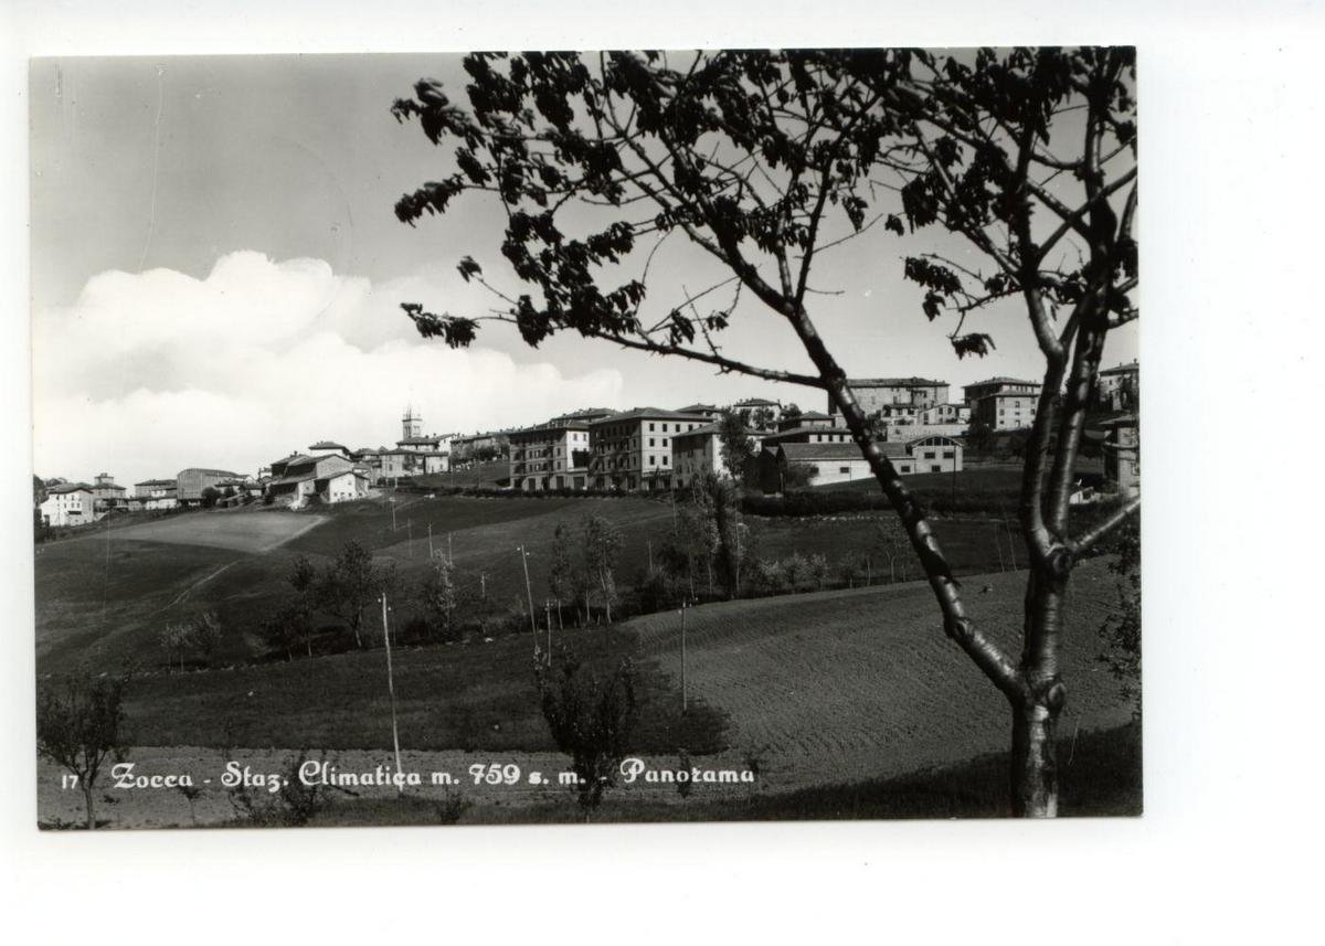
[(38, 824), (1140, 815), (1138, 69), (33, 60)]

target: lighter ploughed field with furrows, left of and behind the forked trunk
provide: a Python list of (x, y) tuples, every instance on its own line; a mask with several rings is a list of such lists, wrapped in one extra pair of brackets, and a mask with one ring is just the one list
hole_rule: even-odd
[[(971, 617), (1016, 653), (1024, 575), (984, 575), (966, 588)], [(1063, 653), (1067, 726), (1105, 729), (1130, 717), (1094, 661), (1098, 627), (1116, 604), (1105, 563), (1083, 564)], [(676, 616), (631, 627), (644, 653), (680, 676)], [(894, 776), (1006, 746), (1003, 696), (943, 636), (920, 582), (696, 608), (686, 653), (688, 680), (727, 714), (731, 743), (766, 753), (788, 783)]]

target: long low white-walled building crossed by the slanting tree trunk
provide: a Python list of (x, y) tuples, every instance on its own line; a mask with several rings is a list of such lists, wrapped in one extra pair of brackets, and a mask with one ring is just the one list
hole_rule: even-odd
[[(906, 443), (881, 441), (874, 445), (892, 461), (900, 476), (962, 469), (962, 444), (951, 437), (917, 437)], [(770, 444), (759, 454), (759, 484), (763, 490), (782, 492), (787, 469), (791, 466), (804, 469), (811, 486), (867, 480), (873, 476), (869, 462), (855, 444)]]

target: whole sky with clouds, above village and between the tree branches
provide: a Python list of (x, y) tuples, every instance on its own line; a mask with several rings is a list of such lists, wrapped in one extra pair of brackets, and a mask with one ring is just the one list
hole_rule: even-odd
[[(390, 114), (421, 77), (460, 89), (460, 57), (33, 61), (38, 476), (109, 472), (132, 484), (184, 466), (256, 473), (323, 439), (394, 443), (407, 405), (435, 433), (534, 424), (590, 405), (766, 396), (825, 409), (818, 390), (578, 337), (530, 348), (514, 329), (485, 326), (464, 351), (421, 339), (400, 302), (466, 315), (494, 305), (457, 274), (462, 256), (518, 291), (502, 270), (490, 204), (474, 200), (416, 228), (395, 217), (401, 193), (449, 172), (416, 125)], [(1015, 305), (969, 323), (994, 335), (988, 358), (957, 359), (950, 327), (929, 323), (920, 291), (901, 278), (909, 252), (963, 253), (945, 235), (926, 238), (872, 232), (818, 261), (811, 314), (848, 374), (939, 378), (954, 397), (992, 375), (1039, 376)], [(661, 317), (717, 281), (716, 266), (669, 240), (651, 266), (644, 314)], [(742, 360), (808, 368), (790, 329), (750, 299), (722, 344)], [(1136, 354), (1129, 326), (1110, 335), (1104, 360)]]

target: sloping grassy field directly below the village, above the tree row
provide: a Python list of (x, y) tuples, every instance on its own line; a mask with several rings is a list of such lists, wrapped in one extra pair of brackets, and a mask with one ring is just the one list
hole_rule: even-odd
[[(366, 499), (317, 513), (189, 513), (38, 545), (38, 672), (60, 672), (81, 662), (160, 666), (160, 629), (201, 609), (215, 611), (224, 629), (216, 664), (246, 662), (261, 653), (261, 621), (289, 595), (286, 576), (294, 558), (307, 555), (321, 563), (350, 539), (396, 563), (404, 595), (398, 613), (404, 620), (413, 607), (409, 596), (427, 574), (429, 527), (433, 549), (450, 550), (461, 590), (477, 596), (482, 588), (498, 611), (510, 613), (527, 609), (517, 546), (529, 550), (530, 591), (541, 605), (558, 523), (578, 533), (586, 515), (610, 519), (621, 534), (616, 575), (623, 587), (643, 580), (651, 551), (657, 552), (672, 530), (670, 503), (639, 497), (429, 498), (401, 493), (392, 498), (398, 501)], [(840, 580), (837, 564), (844, 555), (874, 543), (881, 522), (890, 523), (892, 514), (749, 518), (755, 555), (778, 559), (794, 551), (823, 552), (833, 566), (831, 583)], [(1022, 551), (1010, 550), (1006, 527), (994, 522), (942, 519), (935, 530), (959, 575), (1024, 564), (1014, 559)], [(572, 552), (579, 552), (578, 546)], [(872, 578), (889, 579), (881, 555), (872, 558)], [(914, 578), (910, 556), (898, 558), (892, 578)]]

